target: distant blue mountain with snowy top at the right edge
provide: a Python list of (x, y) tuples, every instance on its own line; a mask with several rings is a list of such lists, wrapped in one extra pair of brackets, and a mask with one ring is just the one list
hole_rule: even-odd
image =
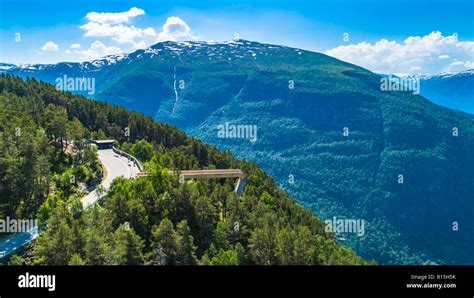
[(460, 73), (413, 75), (420, 80), (420, 93), (432, 102), (474, 114), (474, 69)]

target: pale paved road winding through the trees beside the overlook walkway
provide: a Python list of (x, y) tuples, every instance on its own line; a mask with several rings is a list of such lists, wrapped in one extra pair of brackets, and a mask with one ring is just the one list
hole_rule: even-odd
[[(104, 165), (107, 176), (102, 181), (101, 185), (106, 190), (109, 189), (112, 180), (116, 177), (123, 176), (125, 178), (136, 177), (140, 170), (137, 166), (131, 162), (129, 165), (128, 159), (123, 156), (119, 156), (113, 152), (112, 149), (99, 150), (98, 157), (102, 165)], [(82, 204), (88, 206), (99, 199), (96, 190), (91, 191), (88, 195), (81, 199)], [(31, 229), (28, 232), (17, 233), (0, 239), (0, 259), (8, 256), (18, 248), (24, 246), (31, 240), (38, 237), (38, 228)]]

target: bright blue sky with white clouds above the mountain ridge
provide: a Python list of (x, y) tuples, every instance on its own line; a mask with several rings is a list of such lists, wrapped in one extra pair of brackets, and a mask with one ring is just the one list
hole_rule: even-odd
[(397, 74), (474, 68), (474, 1), (0, 2), (0, 62), (56, 63), (162, 40), (240, 38), (323, 52)]

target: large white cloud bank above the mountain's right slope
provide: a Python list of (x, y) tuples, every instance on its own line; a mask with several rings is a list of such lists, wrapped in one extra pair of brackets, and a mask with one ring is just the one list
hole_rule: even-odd
[(403, 43), (381, 39), (374, 44), (339, 46), (325, 54), (376, 72), (434, 74), (472, 68), (474, 42), (435, 31), (423, 37), (410, 36)]

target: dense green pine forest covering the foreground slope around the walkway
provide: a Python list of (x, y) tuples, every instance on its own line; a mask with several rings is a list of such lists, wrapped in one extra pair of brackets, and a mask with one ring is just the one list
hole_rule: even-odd
[[(118, 178), (84, 208), (85, 189), (106, 175), (84, 140), (103, 138), (151, 175)], [(167, 171), (212, 168), (242, 169), (244, 193), (231, 179), (183, 183)], [(29, 253), (9, 264), (372, 263), (338, 244), (255, 164), (140, 113), (10, 75), (0, 77), (0, 216), (38, 218), (42, 227)]]

